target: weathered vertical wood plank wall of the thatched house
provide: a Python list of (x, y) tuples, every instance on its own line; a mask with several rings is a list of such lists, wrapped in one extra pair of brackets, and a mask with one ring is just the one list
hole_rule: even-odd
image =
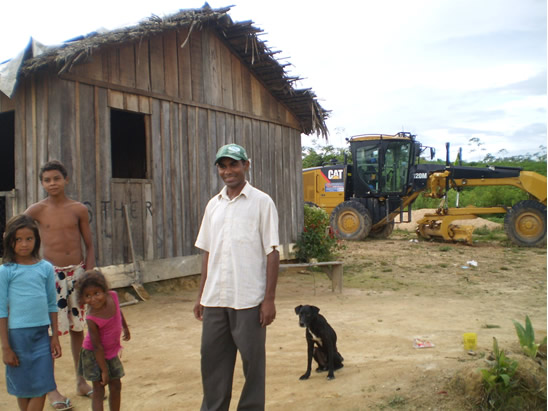
[[(15, 110), (18, 208), (44, 197), (38, 170), (59, 159), (68, 193), (89, 209), (98, 264), (130, 261), (123, 205), (139, 258), (196, 254), (207, 201), (222, 187), (213, 160), (236, 142), (252, 159), (250, 181), (274, 199), (282, 243), (302, 227), (296, 118), (211, 31), (186, 30), (110, 47), (57, 76), (25, 79), (0, 112)], [(143, 113), (147, 179), (112, 179), (110, 109)]]

